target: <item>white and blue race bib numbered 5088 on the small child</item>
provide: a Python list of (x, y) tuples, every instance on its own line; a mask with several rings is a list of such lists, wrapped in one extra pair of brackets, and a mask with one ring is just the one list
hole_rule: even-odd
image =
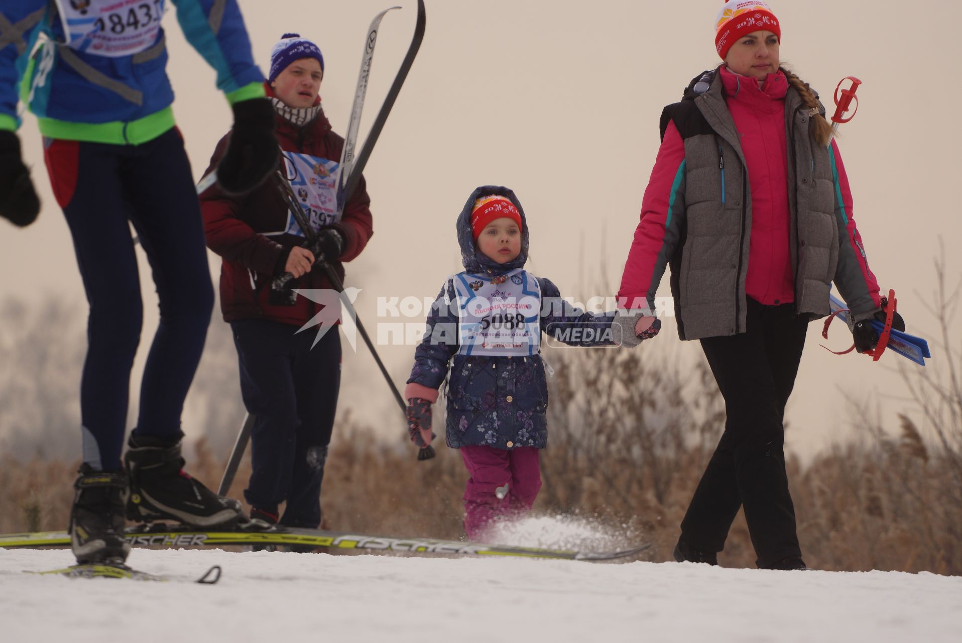
[(525, 270), (498, 277), (454, 275), (458, 352), (462, 355), (535, 355), (541, 348), (541, 287)]

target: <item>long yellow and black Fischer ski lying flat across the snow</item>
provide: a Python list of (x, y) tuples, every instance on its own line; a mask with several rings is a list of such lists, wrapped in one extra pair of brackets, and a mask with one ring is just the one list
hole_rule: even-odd
[[(156, 530), (154, 530), (156, 529)], [(155, 525), (151, 530), (138, 527), (127, 530), (127, 541), (133, 547), (219, 547), (223, 545), (299, 545), (342, 550), (372, 552), (447, 553), (456, 555), (515, 556), (556, 558), (562, 560), (614, 560), (642, 553), (651, 547), (646, 543), (612, 552), (488, 545), (437, 538), (396, 538), (373, 536), (350, 531), (274, 527), (265, 531), (202, 531), (192, 528), (169, 528)], [(68, 547), (70, 535), (63, 531), (40, 531), (0, 535), (0, 548)]]

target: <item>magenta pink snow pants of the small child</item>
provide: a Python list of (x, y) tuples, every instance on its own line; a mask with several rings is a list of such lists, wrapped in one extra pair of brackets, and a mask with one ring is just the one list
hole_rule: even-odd
[[(541, 489), (540, 449), (480, 445), (460, 451), (470, 474), (465, 489), (465, 530), (470, 540), (483, 540), (495, 519), (520, 518), (531, 510)], [(503, 498), (498, 498), (498, 488)]]

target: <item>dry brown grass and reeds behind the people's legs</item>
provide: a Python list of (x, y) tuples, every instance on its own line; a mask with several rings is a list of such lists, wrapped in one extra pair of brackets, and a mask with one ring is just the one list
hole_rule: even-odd
[[(723, 424), (706, 366), (683, 377), (677, 367), (645, 365), (638, 353), (608, 350), (554, 350), (550, 360), (550, 440), (535, 512), (590, 518), (631, 534), (630, 540), (652, 541), (646, 559), (670, 559), (678, 524)], [(639, 381), (649, 386), (621, 385)], [(899, 437), (879, 434), (869, 446), (840, 446), (805, 467), (790, 458), (798, 533), (809, 565), (962, 574), (962, 498), (949, 476), (953, 463), (941, 446), (926, 445), (907, 417), (900, 423)], [(328, 527), (462, 535), (467, 475), (456, 451), (442, 447), (436, 459), (418, 463), (402, 436), (392, 444), (379, 441), (349, 415), (336, 436), (322, 498)], [(193, 451), (190, 472), (215, 488), (226, 454), (216, 457), (203, 440)], [(75, 468), (63, 461), (6, 458), (0, 466), (0, 531), (63, 528)], [(249, 472), (245, 461), (233, 497), (241, 496)], [(720, 560), (753, 566), (741, 515)]]

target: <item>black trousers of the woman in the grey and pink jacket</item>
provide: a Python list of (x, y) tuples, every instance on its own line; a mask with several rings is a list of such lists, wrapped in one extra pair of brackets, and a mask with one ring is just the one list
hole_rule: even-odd
[(785, 474), (783, 420), (808, 321), (795, 315), (794, 304), (747, 302), (745, 333), (701, 340), (727, 419), (681, 532), (691, 548), (721, 552), (744, 505), (757, 565), (774, 567), (801, 555)]

